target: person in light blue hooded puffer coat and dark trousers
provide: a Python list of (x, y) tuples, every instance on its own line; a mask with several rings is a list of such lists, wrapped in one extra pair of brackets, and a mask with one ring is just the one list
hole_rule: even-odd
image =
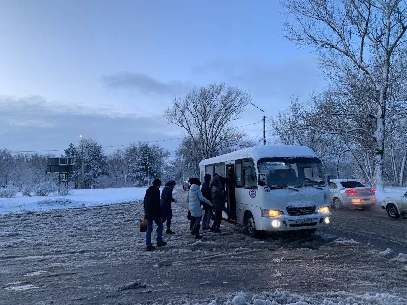
[(189, 210), (191, 211), (192, 217), (195, 218), (195, 239), (200, 239), (202, 236), (199, 235), (199, 227), (200, 227), (200, 220), (202, 219), (202, 208), (201, 208), (201, 201), (203, 203), (212, 206), (211, 201), (203, 197), (202, 191), (200, 190), (200, 181), (197, 178), (190, 179), (191, 187), (188, 193), (188, 205)]

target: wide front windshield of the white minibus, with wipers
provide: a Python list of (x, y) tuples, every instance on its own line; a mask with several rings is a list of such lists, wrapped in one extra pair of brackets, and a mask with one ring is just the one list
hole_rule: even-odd
[(326, 179), (318, 158), (262, 158), (258, 172), (265, 173), (271, 189), (284, 187), (322, 187)]

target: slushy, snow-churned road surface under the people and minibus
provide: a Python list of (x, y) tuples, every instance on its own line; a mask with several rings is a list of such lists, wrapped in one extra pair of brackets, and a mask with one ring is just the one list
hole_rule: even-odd
[(143, 251), (140, 202), (1, 216), (0, 304), (223, 304), (240, 291), (278, 304), (407, 304), (407, 220), (335, 211), (313, 236), (253, 239), (222, 223), (195, 242), (186, 192), (176, 198), (177, 234), (155, 252)]

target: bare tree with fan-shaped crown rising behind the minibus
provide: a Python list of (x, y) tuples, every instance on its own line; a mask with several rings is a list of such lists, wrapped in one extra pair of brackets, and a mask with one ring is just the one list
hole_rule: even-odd
[(250, 95), (224, 83), (192, 89), (184, 98), (175, 98), (165, 117), (182, 127), (203, 159), (220, 154), (222, 149), (236, 144), (246, 135), (232, 123), (250, 102)]

